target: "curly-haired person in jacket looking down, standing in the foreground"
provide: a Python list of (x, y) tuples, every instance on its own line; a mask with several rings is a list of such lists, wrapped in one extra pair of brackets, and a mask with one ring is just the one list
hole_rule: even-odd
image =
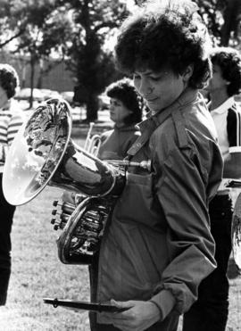
[(125, 311), (91, 313), (92, 331), (174, 331), (216, 267), (208, 203), (222, 175), (210, 112), (199, 93), (211, 75), (209, 36), (188, 0), (148, 1), (120, 27), (118, 68), (150, 110), (126, 186), (102, 239), (91, 299)]

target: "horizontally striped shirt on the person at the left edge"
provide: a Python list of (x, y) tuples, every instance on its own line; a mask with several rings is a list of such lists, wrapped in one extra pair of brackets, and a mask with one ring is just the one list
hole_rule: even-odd
[(4, 170), (5, 154), (23, 123), (23, 112), (15, 100), (0, 109), (0, 172)]

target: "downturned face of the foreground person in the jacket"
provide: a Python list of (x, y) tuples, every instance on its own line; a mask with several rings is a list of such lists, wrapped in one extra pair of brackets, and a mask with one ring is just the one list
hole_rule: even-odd
[(187, 87), (186, 76), (176, 75), (171, 70), (136, 71), (133, 79), (137, 91), (145, 98), (152, 112), (168, 107)]

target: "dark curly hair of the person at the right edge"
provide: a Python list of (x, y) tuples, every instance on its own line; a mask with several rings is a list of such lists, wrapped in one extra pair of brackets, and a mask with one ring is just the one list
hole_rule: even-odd
[(232, 47), (215, 47), (211, 61), (220, 67), (222, 78), (229, 82), (228, 95), (238, 95), (241, 92), (241, 56), (237, 50)]

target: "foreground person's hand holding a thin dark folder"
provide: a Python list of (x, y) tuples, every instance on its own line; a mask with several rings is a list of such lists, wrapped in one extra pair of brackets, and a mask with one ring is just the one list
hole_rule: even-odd
[(112, 300), (111, 303), (118, 308), (129, 308), (123, 312), (102, 313), (108, 324), (122, 331), (143, 331), (161, 319), (161, 311), (153, 302)]

